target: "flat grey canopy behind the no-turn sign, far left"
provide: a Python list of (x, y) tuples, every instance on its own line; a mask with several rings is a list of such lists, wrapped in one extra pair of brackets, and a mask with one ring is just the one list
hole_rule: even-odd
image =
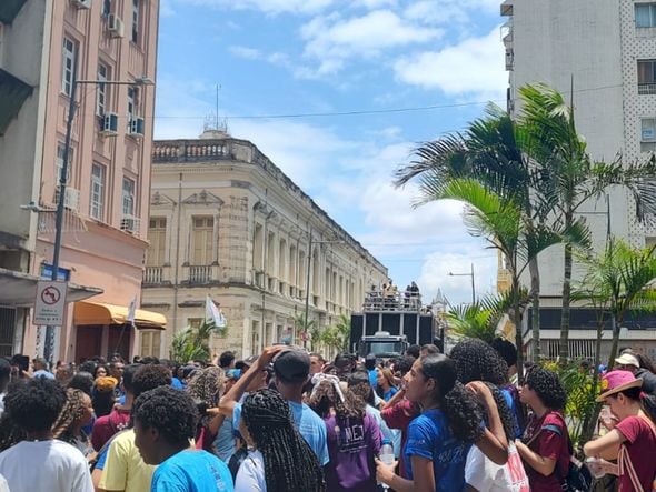
[[(0, 268), (0, 305), (33, 308), (37, 299), (38, 277)], [(68, 283), (67, 302), (81, 301), (102, 293), (102, 289)]]

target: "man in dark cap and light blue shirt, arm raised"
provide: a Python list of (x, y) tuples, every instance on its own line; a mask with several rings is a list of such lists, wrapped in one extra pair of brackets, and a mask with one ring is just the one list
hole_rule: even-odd
[(326, 425), (321, 418), (302, 402), (302, 390), (310, 374), (310, 357), (304, 350), (287, 345), (267, 347), (257, 362), (221, 398), (219, 411), (232, 418), (232, 425), (239, 429), (241, 415), (239, 401), (251, 382), (257, 380), (271, 362), (276, 386), (289, 403), (296, 428), (317, 454), (319, 463), (327, 464), (329, 456)]

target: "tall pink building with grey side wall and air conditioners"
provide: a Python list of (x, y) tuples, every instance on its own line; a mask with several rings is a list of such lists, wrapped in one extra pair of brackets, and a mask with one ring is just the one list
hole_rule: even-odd
[[(158, 18), (158, 0), (0, 6), (0, 77), (17, 79), (13, 92), (0, 94), (0, 267), (28, 274), (26, 281), (51, 271), (73, 79), (108, 81), (77, 88), (60, 275), (88, 289), (71, 295), (69, 288), (54, 360), (117, 349), (128, 357), (137, 343), (126, 315), (135, 295), (139, 301), (148, 245), (155, 90), (132, 82), (155, 80)], [(42, 353), (46, 330), (32, 325), (29, 304), (1, 303), (2, 353)], [(156, 313), (137, 313), (137, 328), (165, 323)]]

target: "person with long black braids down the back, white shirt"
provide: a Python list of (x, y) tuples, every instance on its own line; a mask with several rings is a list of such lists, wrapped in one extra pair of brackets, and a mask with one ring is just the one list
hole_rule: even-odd
[(317, 455), (294, 425), (289, 404), (274, 390), (250, 393), (241, 406), (239, 431), (249, 452), (235, 492), (325, 492)]

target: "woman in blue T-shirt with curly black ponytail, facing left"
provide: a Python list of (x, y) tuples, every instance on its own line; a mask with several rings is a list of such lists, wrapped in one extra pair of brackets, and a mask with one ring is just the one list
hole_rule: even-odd
[(378, 461), (380, 482), (398, 492), (460, 491), (473, 443), (498, 464), (507, 462), (507, 442), (499, 442), (481, 424), (481, 408), (474, 393), (457, 380), (451, 359), (443, 354), (423, 357), (405, 381), (406, 398), (423, 409), (408, 426), (402, 453), (407, 476), (395, 474), (394, 465)]

